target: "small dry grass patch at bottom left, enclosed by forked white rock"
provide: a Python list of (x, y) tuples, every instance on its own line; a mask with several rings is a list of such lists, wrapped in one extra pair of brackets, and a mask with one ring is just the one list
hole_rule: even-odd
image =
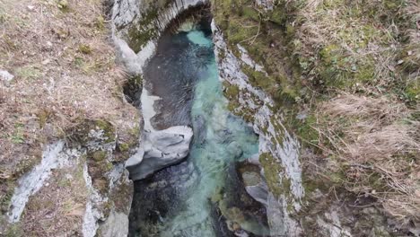
[(40, 189), (27, 204), (21, 223), (24, 232), (39, 237), (81, 236), (89, 198), (84, 187), (83, 165), (54, 171), (48, 186)]

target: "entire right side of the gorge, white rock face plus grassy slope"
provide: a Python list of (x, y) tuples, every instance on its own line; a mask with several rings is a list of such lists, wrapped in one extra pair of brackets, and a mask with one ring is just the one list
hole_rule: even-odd
[[(212, 2), (224, 94), (229, 109), (260, 136), (275, 236), (418, 234), (410, 211), (420, 206), (411, 187), (417, 171), (407, 165), (419, 155), (412, 152), (418, 137), (407, 133), (419, 128), (418, 96), (411, 93), (418, 90), (418, 74), (402, 66), (418, 34), (402, 33), (417, 31), (416, 17), (401, 19), (416, 7), (385, 1), (362, 10), (362, 2)], [(391, 21), (401, 31), (384, 30)], [(347, 28), (350, 22), (357, 23)], [(384, 95), (373, 81), (392, 92)], [(407, 180), (400, 180), (405, 171)], [(390, 195), (402, 190), (391, 183), (405, 187), (405, 198)]]

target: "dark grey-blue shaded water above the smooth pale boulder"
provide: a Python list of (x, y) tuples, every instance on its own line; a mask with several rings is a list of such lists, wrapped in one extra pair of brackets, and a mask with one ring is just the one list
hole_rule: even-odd
[[(200, 21), (199, 31), (211, 36), (208, 20)], [(153, 127), (192, 126), (191, 106), (194, 87), (206, 75), (208, 61), (214, 59), (213, 48), (197, 46), (187, 32), (163, 33), (156, 55), (144, 68), (145, 88), (162, 98), (155, 102)]]

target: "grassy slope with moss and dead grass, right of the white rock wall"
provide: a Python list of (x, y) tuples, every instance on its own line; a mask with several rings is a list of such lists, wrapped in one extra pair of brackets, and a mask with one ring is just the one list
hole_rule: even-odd
[(418, 221), (419, 3), (279, 0), (273, 11), (213, 3), (233, 53), (240, 43), (266, 67), (268, 76), (243, 68), (251, 83), (312, 150), (302, 155), (307, 191), (328, 183), (372, 197), (399, 224)]

